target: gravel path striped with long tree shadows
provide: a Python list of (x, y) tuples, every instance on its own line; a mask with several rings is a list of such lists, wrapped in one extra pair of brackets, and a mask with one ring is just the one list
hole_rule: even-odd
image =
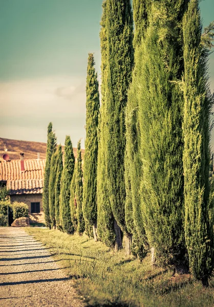
[(22, 228), (0, 227), (0, 306), (82, 307), (48, 249)]

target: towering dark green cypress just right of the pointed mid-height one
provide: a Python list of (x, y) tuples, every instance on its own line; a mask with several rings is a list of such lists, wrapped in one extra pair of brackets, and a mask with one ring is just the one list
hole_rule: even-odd
[[(130, 0), (106, 0), (106, 39), (106, 179), (118, 238), (117, 225), (129, 235), (125, 225), (124, 154), (125, 107), (134, 63)], [(121, 247), (118, 240), (117, 245)]]

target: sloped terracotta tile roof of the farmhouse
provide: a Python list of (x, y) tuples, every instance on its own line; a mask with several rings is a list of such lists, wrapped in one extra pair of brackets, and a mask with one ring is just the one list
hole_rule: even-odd
[(42, 193), (45, 159), (0, 161), (0, 181), (7, 182), (10, 194)]

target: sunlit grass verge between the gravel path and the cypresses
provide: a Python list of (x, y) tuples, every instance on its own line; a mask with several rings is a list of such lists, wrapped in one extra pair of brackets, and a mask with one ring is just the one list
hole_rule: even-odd
[(73, 278), (89, 306), (120, 307), (213, 307), (214, 278), (209, 288), (190, 275), (177, 275), (152, 268), (150, 255), (142, 264), (124, 251), (114, 254), (86, 235), (68, 235), (59, 230), (25, 228), (50, 248), (53, 257)]

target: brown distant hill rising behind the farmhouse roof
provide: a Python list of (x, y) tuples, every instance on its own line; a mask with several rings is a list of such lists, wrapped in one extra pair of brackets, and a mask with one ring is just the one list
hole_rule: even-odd
[[(0, 138), (0, 160), (3, 160), (4, 148), (8, 149), (7, 154), (10, 160), (20, 159), (20, 153), (24, 152), (24, 159), (37, 159), (38, 152), (40, 159), (46, 158), (46, 143), (41, 142), (30, 142), (30, 141), (17, 141)], [(62, 146), (62, 150), (64, 146)], [(74, 156), (76, 157), (77, 149), (73, 148)], [(84, 149), (82, 149), (82, 156), (84, 155)]]

